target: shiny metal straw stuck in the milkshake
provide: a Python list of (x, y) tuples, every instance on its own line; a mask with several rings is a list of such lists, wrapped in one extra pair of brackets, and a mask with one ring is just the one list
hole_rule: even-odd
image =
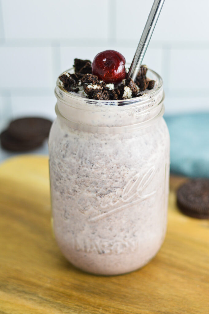
[(143, 33), (141, 35), (138, 47), (136, 49), (134, 59), (131, 63), (129, 73), (127, 75), (127, 78), (131, 77), (133, 79), (133, 81), (135, 81), (137, 74), (140, 70), (142, 60), (144, 58), (146, 49), (149, 45), (153, 30), (154, 30), (155, 25), (157, 23), (157, 19), (160, 15), (160, 11), (162, 9), (164, 1), (165, 0), (154, 0), (154, 3), (152, 5), (150, 14), (149, 14), (148, 19), (146, 21), (145, 28), (143, 30)]

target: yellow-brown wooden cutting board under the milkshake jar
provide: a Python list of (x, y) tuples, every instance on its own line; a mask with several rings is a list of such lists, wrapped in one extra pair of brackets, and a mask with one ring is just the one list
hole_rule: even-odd
[(168, 232), (157, 256), (133, 273), (102, 277), (74, 268), (50, 226), (48, 159), (0, 166), (0, 314), (209, 313), (209, 221), (179, 213), (171, 178)]

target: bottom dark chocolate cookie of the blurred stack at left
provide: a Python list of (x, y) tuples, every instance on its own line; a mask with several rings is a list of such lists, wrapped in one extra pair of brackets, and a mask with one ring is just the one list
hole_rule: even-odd
[(0, 134), (0, 141), (1, 141), (1, 146), (4, 149), (7, 149), (12, 152), (26, 152), (30, 151), (34, 148), (37, 148), (41, 146), (43, 143), (45, 137), (43, 136), (38, 136), (36, 139), (33, 140), (18, 140), (16, 138), (13, 138), (8, 130), (4, 130)]

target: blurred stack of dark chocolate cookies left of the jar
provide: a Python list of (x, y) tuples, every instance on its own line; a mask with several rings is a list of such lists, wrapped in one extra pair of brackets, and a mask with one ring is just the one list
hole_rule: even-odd
[(1, 146), (14, 152), (26, 152), (42, 145), (52, 122), (40, 117), (25, 117), (10, 122), (0, 134)]

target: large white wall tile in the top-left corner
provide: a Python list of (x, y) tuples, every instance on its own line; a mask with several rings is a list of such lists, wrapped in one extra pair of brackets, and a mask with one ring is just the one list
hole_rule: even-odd
[(7, 39), (108, 36), (108, 0), (2, 0), (2, 7)]

